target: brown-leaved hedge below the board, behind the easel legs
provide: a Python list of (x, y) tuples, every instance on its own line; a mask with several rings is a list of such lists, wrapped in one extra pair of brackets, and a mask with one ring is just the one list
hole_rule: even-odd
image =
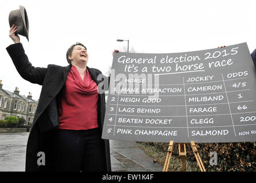
[[(154, 154), (167, 154), (169, 143), (160, 142), (138, 142), (150, 149), (156, 149)], [(152, 148), (152, 146), (154, 148)], [(196, 148), (203, 161), (207, 172), (251, 172), (256, 171), (256, 144), (255, 142), (236, 142), (236, 143), (197, 143)], [(190, 143), (186, 144), (187, 161), (192, 171), (200, 171), (196, 164), (196, 158), (191, 149)], [(216, 152), (218, 155), (218, 165), (210, 165), (210, 152)], [(178, 143), (174, 143), (173, 156), (179, 156)], [(149, 154), (150, 155), (150, 154)], [(165, 157), (162, 158), (165, 160)], [(161, 162), (164, 165), (164, 162)], [(171, 169), (170, 169), (171, 170)]]

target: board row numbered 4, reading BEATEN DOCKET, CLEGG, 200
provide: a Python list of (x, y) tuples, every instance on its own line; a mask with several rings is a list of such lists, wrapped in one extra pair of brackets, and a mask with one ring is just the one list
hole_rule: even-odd
[(208, 126), (230, 126), (230, 125), (256, 125), (255, 113), (224, 114), (216, 116), (129, 116), (129, 115), (107, 115), (107, 125), (118, 126), (143, 126), (145, 128), (168, 128), (168, 127), (208, 127)]

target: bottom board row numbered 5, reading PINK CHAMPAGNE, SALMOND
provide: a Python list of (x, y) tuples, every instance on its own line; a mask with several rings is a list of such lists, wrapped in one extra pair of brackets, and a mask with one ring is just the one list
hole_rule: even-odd
[(256, 126), (209, 128), (136, 128), (106, 125), (102, 138), (142, 142), (253, 142)]

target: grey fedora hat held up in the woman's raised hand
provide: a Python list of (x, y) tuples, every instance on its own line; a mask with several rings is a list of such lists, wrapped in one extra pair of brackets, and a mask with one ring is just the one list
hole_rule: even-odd
[(10, 27), (17, 26), (17, 34), (25, 36), (29, 41), (29, 19), (26, 14), (24, 6), (20, 6), (20, 9), (13, 10), (9, 14), (9, 25)]

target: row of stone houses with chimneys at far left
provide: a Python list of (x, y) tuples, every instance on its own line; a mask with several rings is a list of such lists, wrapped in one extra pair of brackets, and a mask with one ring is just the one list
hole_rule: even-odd
[(26, 125), (31, 125), (38, 101), (32, 99), (32, 93), (27, 97), (22, 96), (18, 87), (15, 87), (13, 92), (9, 92), (2, 86), (2, 80), (0, 80), (0, 120), (7, 116), (17, 116), (24, 118)]

